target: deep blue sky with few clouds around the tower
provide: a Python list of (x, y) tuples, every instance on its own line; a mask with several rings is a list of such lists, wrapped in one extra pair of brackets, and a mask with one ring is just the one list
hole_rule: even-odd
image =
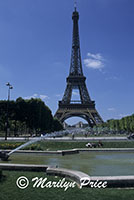
[[(134, 113), (134, 1), (77, 2), (83, 71), (91, 99), (104, 120), (130, 115)], [(73, 0), (0, 0), (0, 99), (7, 99), (5, 84), (10, 82), (11, 99), (40, 97), (55, 113), (69, 73), (73, 5)]]

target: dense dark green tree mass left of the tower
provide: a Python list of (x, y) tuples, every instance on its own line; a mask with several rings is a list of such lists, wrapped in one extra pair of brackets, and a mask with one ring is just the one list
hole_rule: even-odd
[(23, 99), (19, 97), (16, 101), (0, 101), (0, 131), (5, 130), (7, 117), (11, 131), (18, 132), (50, 132), (61, 130), (61, 123), (54, 119), (51, 110), (41, 99)]

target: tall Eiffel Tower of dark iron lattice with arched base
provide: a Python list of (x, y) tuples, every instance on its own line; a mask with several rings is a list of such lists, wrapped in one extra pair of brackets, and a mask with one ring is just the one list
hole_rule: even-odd
[[(90, 127), (103, 122), (102, 118), (95, 109), (95, 101), (92, 101), (85, 81), (86, 77), (83, 75), (81, 53), (80, 53), (80, 41), (79, 41), (79, 28), (78, 20), (79, 13), (75, 10), (72, 14), (73, 20), (73, 40), (72, 40), (72, 53), (69, 76), (66, 79), (67, 86), (64, 92), (64, 96), (59, 101), (59, 107), (55, 113), (61, 123), (66, 119), (77, 116), (85, 119)], [(73, 90), (79, 91), (80, 100), (71, 100)]]

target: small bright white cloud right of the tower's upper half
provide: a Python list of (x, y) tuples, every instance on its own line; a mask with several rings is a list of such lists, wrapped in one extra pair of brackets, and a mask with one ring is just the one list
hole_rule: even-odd
[(104, 67), (104, 58), (100, 53), (87, 53), (87, 57), (88, 58), (84, 59), (84, 64), (86, 67), (99, 70)]

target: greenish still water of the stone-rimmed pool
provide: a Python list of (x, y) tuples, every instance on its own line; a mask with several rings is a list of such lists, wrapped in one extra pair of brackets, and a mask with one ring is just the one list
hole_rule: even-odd
[(99, 176), (134, 175), (133, 152), (84, 152), (65, 156), (14, 153), (6, 163), (44, 164)]

